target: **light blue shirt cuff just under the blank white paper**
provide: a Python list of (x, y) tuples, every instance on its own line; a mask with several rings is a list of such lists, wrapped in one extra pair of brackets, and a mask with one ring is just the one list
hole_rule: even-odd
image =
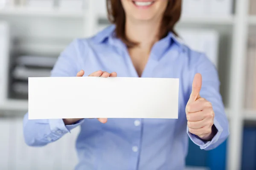
[(70, 130), (81, 125), (84, 119), (79, 120), (73, 125), (65, 125), (63, 119), (49, 119), (50, 130), (56, 136), (62, 136), (65, 133), (70, 133)]

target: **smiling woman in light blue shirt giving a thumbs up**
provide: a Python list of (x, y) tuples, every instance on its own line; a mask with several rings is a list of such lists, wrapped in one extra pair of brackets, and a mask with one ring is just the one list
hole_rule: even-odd
[(77, 170), (182, 170), (188, 136), (211, 150), (229, 134), (218, 73), (204, 54), (177, 40), (181, 0), (108, 3), (113, 25), (74, 40), (58, 58), (52, 77), (179, 78), (179, 119), (28, 120), (26, 114), (25, 141), (43, 146), (81, 126)]

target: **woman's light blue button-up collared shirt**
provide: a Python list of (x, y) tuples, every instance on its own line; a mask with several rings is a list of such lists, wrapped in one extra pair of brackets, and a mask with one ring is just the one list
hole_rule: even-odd
[[(119, 77), (138, 77), (126, 46), (113, 35), (114, 28), (109, 26), (94, 37), (70, 43), (58, 57), (52, 77), (75, 77), (81, 69), (84, 76), (102, 70), (115, 71)], [(185, 107), (196, 73), (201, 73), (203, 79), (200, 95), (212, 102), (215, 111), (218, 133), (208, 142), (189, 133), (187, 127)], [(76, 143), (76, 170), (182, 170), (188, 138), (204, 150), (211, 150), (227, 139), (228, 121), (219, 93), (218, 73), (204, 54), (192, 51), (169, 33), (154, 44), (142, 77), (180, 79), (178, 119), (108, 119), (106, 124), (97, 119), (82, 119), (66, 126), (62, 119), (28, 120), (26, 113), (26, 144), (44, 146), (81, 126)]]

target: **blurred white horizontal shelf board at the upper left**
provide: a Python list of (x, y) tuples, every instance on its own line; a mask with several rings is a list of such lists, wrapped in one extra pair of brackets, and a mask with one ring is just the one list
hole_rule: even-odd
[(28, 15), (28, 16), (46, 16), (46, 17), (83, 17), (82, 11), (61, 11), (58, 9), (42, 9), (28, 7), (6, 7), (0, 8), (0, 15)]

